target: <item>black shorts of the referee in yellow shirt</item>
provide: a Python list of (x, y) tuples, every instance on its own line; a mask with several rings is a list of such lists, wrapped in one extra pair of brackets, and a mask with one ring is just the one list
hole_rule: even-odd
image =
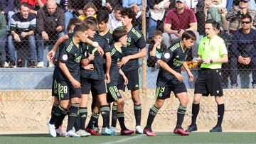
[(198, 71), (194, 94), (223, 96), (222, 73), (220, 69), (203, 68)]

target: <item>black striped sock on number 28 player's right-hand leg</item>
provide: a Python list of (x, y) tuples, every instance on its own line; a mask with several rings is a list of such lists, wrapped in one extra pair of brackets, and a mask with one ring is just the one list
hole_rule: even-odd
[(67, 132), (72, 130), (75, 120), (78, 117), (78, 109), (79, 109), (79, 103), (71, 104), (69, 113), (68, 113), (68, 126), (67, 126)]

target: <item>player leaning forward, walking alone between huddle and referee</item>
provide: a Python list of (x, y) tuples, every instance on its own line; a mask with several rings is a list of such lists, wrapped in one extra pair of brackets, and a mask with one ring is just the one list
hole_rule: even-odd
[(161, 60), (159, 60), (160, 70), (156, 80), (156, 102), (149, 110), (146, 127), (144, 128), (144, 134), (148, 136), (156, 136), (156, 134), (151, 130), (151, 124), (153, 123), (161, 106), (164, 105), (165, 99), (168, 99), (171, 96), (171, 92), (174, 92), (180, 102), (174, 133), (189, 135), (189, 133), (183, 131), (183, 128), (181, 127), (186, 113), (186, 106), (188, 104), (188, 93), (186, 86), (183, 83), (184, 77), (181, 75), (181, 67), (183, 66), (185, 68), (188, 73), (189, 80), (192, 81), (193, 74), (188, 69), (186, 57), (188, 56), (191, 46), (193, 46), (193, 43), (196, 40), (196, 35), (193, 31), (185, 31), (181, 38), (182, 40), (180, 42), (174, 43), (167, 48), (163, 52), (163, 55), (161, 55)]

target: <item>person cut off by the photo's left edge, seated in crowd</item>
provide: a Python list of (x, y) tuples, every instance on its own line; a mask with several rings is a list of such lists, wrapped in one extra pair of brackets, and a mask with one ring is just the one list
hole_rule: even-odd
[[(1, 6), (0, 6), (1, 7)], [(0, 8), (1, 11), (1, 8)], [(8, 67), (8, 63), (6, 62), (6, 20), (4, 17), (4, 13), (0, 13), (0, 67)]]

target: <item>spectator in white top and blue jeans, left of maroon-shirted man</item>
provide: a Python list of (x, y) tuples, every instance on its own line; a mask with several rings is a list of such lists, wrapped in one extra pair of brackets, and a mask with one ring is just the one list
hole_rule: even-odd
[(169, 8), (170, 5), (169, 0), (154, 0), (148, 1), (148, 6), (150, 9), (150, 17), (149, 17), (149, 38), (153, 36), (153, 32), (156, 30), (156, 24), (158, 21), (162, 21), (164, 18), (164, 13), (166, 9)]

